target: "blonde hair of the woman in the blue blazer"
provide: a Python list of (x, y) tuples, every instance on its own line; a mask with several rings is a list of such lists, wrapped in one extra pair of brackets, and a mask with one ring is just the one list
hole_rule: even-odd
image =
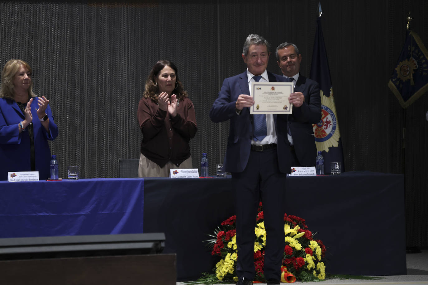
[[(7, 98), (14, 100), (15, 92), (13, 88), (13, 79), (18, 73), (21, 65), (24, 65), (28, 71), (30, 71), (30, 77), (33, 73), (30, 65), (27, 62), (24, 62), (21, 59), (10, 59), (3, 67), (3, 71), (1, 72), (1, 87), (0, 87), (0, 98)], [(33, 80), (30, 81), (30, 87), (28, 88), (28, 96), (36, 97), (37, 95), (33, 92)]]

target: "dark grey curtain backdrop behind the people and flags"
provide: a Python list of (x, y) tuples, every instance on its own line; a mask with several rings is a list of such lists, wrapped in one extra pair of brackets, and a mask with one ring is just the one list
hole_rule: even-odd
[[(136, 112), (146, 77), (158, 59), (172, 60), (196, 109), (193, 166), (207, 152), (214, 174), (229, 123), (211, 123), (208, 112), (223, 79), (245, 70), (245, 38), (256, 33), (270, 42), (268, 70), (274, 73), (280, 72), (276, 46), (297, 44), (301, 73), (309, 75), (317, 6), (318, 0), (2, 2), (0, 62), (27, 61), (36, 94), (51, 100), (59, 126), (51, 151), (60, 176), (78, 165), (80, 177), (102, 178), (118, 176), (119, 158), (139, 157)], [(404, 174), (407, 246), (426, 248), (428, 94), (403, 110), (387, 83), (404, 43), (407, 12), (411, 28), (428, 44), (428, 0), (324, 0), (321, 6), (345, 168)], [(320, 193), (311, 203), (322, 199)], [(377, 223), (376, 217), (362, 220), (362, 233), (376, 232)]]

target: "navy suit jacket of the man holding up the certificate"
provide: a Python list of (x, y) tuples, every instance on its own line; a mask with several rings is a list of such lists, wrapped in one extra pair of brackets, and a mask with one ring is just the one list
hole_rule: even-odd
[[(268, 72), (268, 78), (269, 82), (285, 82), (284, 77), (270, 72)], [(225, 170), (228, 172), (241, 172), (245, 169), (253, 139), (253, 115), (250, 115), (250, 108), (242, 109), (240, 115), (235, 110), (235, 103), (240, 94), (250, 94), (247, 71), (224, 79), (223, 86), (210, 110), (210, 118), (214, 123), (230, 119), (229, 138), (223, 162)], [(297, 115), (296, 118), (299, 116)], [(273, 115), (277, 136), (278, 165), (281, 173), (291, 172), (287, 117), (288, 115)]]

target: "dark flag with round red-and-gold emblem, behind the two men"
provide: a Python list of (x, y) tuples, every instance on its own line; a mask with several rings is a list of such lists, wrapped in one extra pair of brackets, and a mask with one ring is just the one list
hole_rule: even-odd
[(321, 15), (317, 20), (309, 78), (318, 82), (321, 87), (321, 121), (314, 124), (313, 127), (317, 150), (322, 151), (322, 156), (324, 156), (324, 173), (330, 173), (331, 162), (342, 162), (343, 172), (345, 171), (345, 164), (342, 140), (340, 138), (324, 36), (321, 29)]

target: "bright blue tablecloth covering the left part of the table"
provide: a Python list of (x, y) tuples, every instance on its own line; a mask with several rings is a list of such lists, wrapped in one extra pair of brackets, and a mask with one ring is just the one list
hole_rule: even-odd
[(0, 181), (0, 238), (143, 232), (143, 179)]

